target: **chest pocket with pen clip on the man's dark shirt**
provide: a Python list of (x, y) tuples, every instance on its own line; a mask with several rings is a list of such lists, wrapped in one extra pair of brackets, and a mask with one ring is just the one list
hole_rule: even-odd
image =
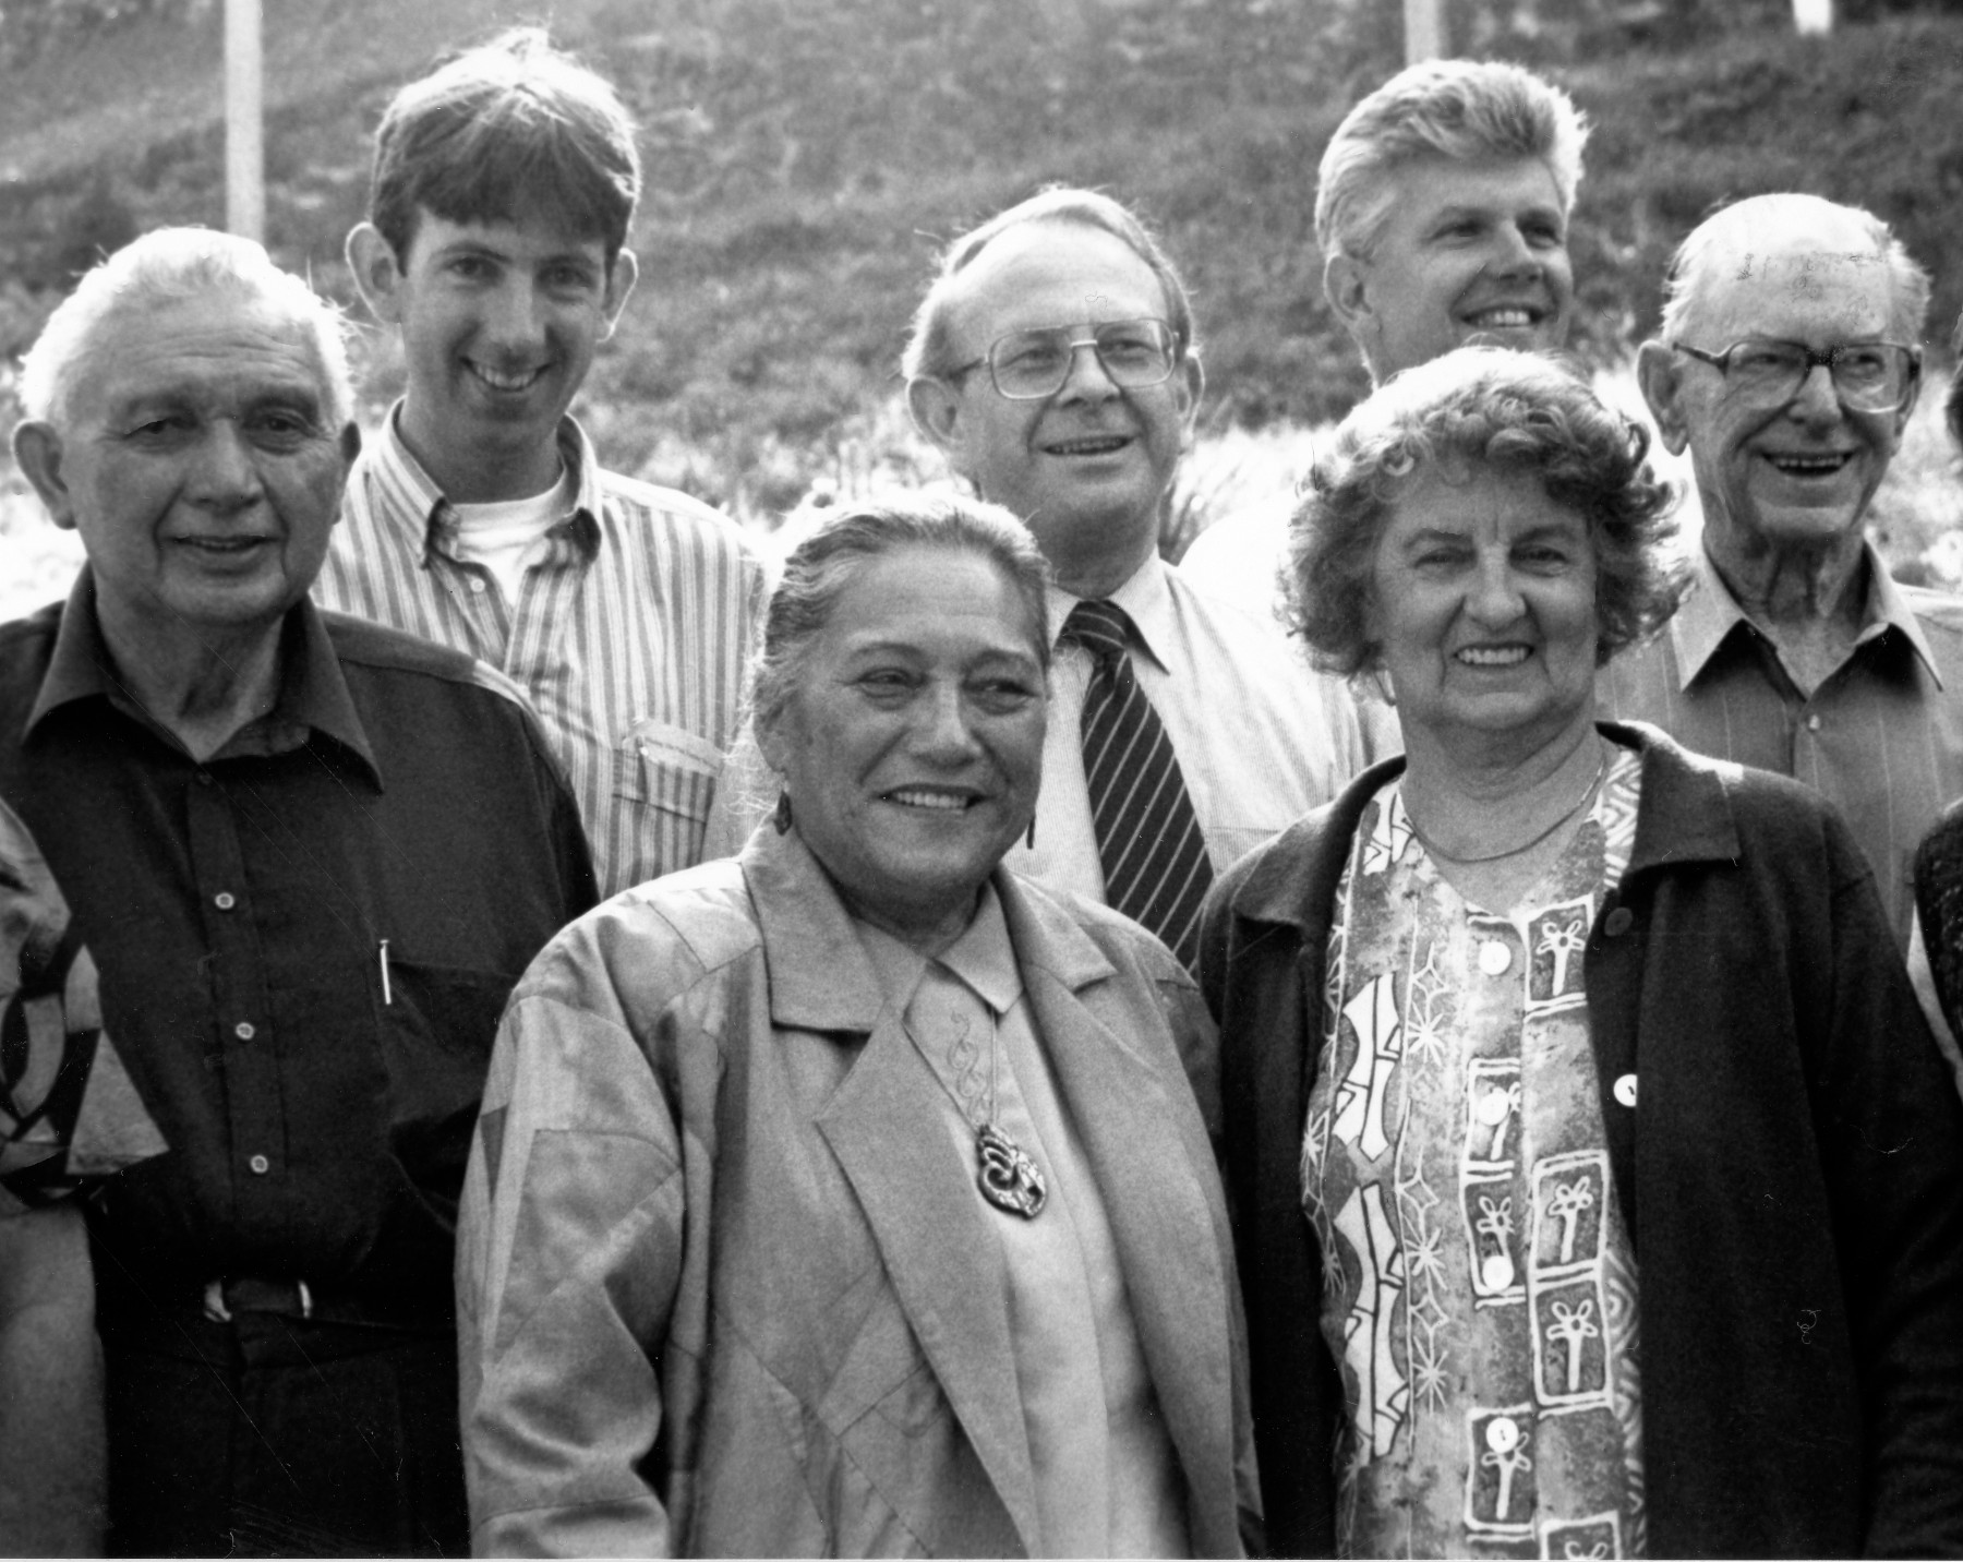
[(389, 1154), (453, 1228), (491, 1044), (518, 973), (377, 962), (375, 1030), (387, 1073)]

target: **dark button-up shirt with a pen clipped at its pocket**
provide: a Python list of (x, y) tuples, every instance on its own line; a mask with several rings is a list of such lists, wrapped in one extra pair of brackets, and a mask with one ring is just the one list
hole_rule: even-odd
[(120, 687), (86, 571), (0, 626), (0, 797), (171, 1146), (104, 1199), (135, 1274), (444, 1307), (499, 1011), (595, 899), (536, 722), (489, 677), (300, 602), (275, 708), (200, 763)]

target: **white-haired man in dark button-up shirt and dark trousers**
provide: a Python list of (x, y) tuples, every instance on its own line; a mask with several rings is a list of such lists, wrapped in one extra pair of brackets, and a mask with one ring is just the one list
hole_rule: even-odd
[(110, 1546), (455, 1554), (451, 1228), (504, 995), (593, 903), (520, 697), (318, 612), (359, 447), (334, 314), (149, 234), (22, 371), (88, 565), (0, 628), (0, 797), (169, 1150), (90, 1213)]

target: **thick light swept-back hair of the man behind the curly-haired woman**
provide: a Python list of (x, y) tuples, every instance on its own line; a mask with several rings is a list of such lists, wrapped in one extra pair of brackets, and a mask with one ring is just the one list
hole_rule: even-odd
[(1574, 100), (1531, 71), (1502, 61), (1423, 61), (1356, 104), (1329, 137), (1315, 184), (1315, 243), (1323, 255), (1368, 259), (1398, 200), (1386, 175), (1421, 157), (1533, 157), (1553, 175), (1566, 216), (1586, 145), (1588, 122)]

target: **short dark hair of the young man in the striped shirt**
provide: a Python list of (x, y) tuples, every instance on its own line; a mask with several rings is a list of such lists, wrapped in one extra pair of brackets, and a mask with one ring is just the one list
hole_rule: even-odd
[(369, 220), (400, 263), (428, 210), (444, 222), (538, 212), (601, 239), (612, 265), (638, 198), (634, 120), (542, 27), (512, 27), (412, 80), (375, 131)]

